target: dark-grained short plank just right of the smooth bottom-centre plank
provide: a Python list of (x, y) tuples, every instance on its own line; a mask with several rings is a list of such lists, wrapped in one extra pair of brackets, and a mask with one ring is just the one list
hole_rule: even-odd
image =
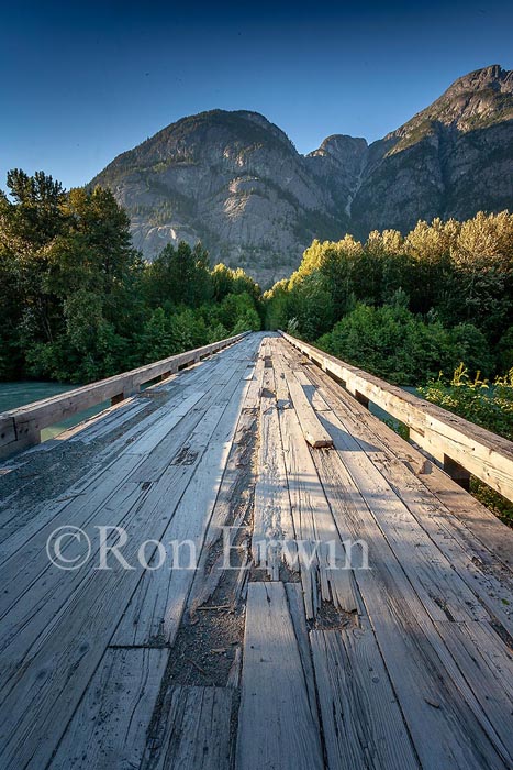
[(370, 624), (310, 634), (330, 770), (412, 770), (413, 745)]

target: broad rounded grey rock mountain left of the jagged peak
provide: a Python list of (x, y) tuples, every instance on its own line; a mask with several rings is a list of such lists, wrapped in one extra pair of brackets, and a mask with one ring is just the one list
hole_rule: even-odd
[(264, 283), (290, 274), (320, 232), (341, 232), (324, 179), (256, 112), (185, 118), (116, 157), (91, 184), (114, 191), (146, 256), (169, 240), (200, 239), (215, 261)]

